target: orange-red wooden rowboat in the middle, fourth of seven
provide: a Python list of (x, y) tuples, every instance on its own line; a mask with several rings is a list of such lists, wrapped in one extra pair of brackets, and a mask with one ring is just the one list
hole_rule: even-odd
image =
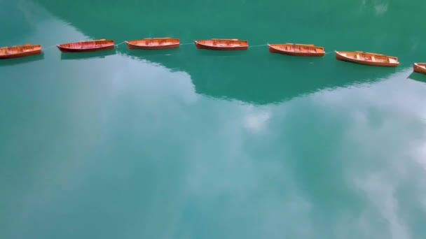
[(194, 41), (195, 47), (207, 50), (247, 50), (249, 43), (238, 39), (211, 39)]

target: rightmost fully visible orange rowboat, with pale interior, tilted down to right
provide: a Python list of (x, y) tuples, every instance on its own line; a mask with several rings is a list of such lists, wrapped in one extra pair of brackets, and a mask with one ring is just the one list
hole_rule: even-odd
[(380, 55), (371, 52), (338, 52), (335, 51), (336, 59), (369, 66), (396, 67), (399, 65), (397, 57)]

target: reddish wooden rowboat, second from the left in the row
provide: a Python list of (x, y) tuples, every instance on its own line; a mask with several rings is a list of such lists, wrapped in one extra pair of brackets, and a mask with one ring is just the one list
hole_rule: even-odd
[(113, 40), (78, 41), (76, 43), (65, 43), (56, 45), (61, 52), (96, 52), (99, 50), (114, 49)]

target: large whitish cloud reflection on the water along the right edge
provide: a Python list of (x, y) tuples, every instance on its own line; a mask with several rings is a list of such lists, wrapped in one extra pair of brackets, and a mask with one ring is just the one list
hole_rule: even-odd
[[(343, 112), (350, 122), (340, 155), (352, 161), (350, 168), (342, 168), (347, 183), (369, 201), (362, 215), (353, 217), (363, 238), (418, 238), (411, 235), (407, 205), (398, 193), (410, 184), (419, 187), (419, 177), (425, 180), (424, 174), (418, 175), (418, 166), (425, 173), (426, 85), (407, 80), (410, 73), (411, 68), (371, 87), (312, 96), (319, 107), (327, 108), (327, 114)], [(414, 200), (416, 207), (426, 200), (425, 194), (411, 194), (419, 197)], [(379, 226), (380, 217), (387, 224), (385, 230)], [(418, 221), (422, 217), (408, 218)]]

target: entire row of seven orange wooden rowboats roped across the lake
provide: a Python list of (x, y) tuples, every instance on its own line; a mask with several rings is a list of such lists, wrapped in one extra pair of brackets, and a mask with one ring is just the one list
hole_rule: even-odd
[[(249, 44), (247, 41), (238, 39), (209, 39), (194, 41), (195, 47), (207, 50), (247, 50)], [(163, 50), (171, 48), (179, 48), (179, 38), (144, 38), (135, 41), (125, 41), (129, 49), (137, 50)], [(65, 43), (57, 45), (61, 52), (95, 52), (99, 50), (114, 49), (113, 40), (94, 40), (79, 41), (76, 43)], [(268, 44), (268, 50), (272, 53), (280, 53), (284, 55), (300, 56), (300, 57), (322, 57), (324, 56), (324, 48), (316, 45), (305, 44)], [(9, 59), (15, 57), (27, 57), (30, 55), (38, 55), (41, 53), (41, 45), (15, 45), (12, 47), (0, 48), (0, 59)], [(336, 59), (341, 61), (349, 61), (357, 64), (369, 66), (387, 66), (396, 67), (399, 65), (397, 57), (390, 57), (371, 52), (341, 52), (335, 51)], [(426, 74), (426, 63), (414, 63), (413, 70), (418, 73)]]

